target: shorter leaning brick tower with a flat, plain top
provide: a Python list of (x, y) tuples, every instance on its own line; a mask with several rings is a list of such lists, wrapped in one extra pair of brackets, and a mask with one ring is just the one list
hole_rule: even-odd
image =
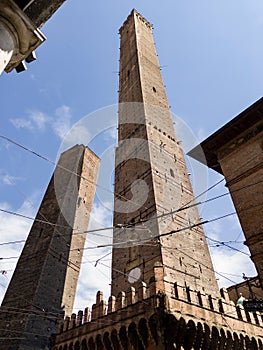
[(0, 308), (1, 349), (47, 349), (72, 313), (98, 168), (83, 145), (61, 155)]

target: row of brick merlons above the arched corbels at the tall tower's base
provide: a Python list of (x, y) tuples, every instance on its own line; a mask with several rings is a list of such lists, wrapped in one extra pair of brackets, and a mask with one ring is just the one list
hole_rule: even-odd
[[(162, 296), (165, 296), (163, 307), (174, 315), (181, 314), (186, 318), (196, 317), (203, 322), (211, 322), (213, 318), (215, 323), (221, 323), (221, 326), (223, 326), (222, 316), (235, 321), (239, 320), (256, 326), (263, 326), (261, 314), (259, 312), (247, 312), (242, 305), (235, 305), (233, 301), (229, 300), (225, 288), (220, 289), (221, 298), (216, 298), (204, 292), (191, 290), (187, 286), (180, 286), (177, 283), (174, 283), (171, 295), (164, 295), (162, 287), (160, 281), (152, 278), (149, 285), (141, 282), (138, 290), (130, 287), (126, 292), (121, 291), (117, 297), (110, 296), (108, 303), (103, 299), (103, 293), (98, 291), (96, 303), (92, 305), (92, 308), (87, 307), (84, 312), (80, 310), (77, 314), (73, 313), (71, 317), (66, 317), (59, 327), (59, 334), (83, 324), (94, 326), (97, 323), (98, 325), (101, 318), (110, 317), (116, 312), (144, 301), (147, 301), (147, 305), (151, 306), (152, 311), (154, 311), (154, 309), (160, 307)], [(213, 316), (211, 316), (211, 313)]]

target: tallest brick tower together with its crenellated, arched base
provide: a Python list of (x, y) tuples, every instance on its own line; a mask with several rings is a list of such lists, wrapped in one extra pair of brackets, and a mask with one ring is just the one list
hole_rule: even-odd
[(66, 317), (51, 349), (262, 350), (261, 315), (218, 291), (151, 25), (133, 10), (120, 33), (112, 295)]

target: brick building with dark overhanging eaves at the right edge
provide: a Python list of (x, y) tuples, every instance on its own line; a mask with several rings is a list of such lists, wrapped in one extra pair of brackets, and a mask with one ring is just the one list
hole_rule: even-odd
[[(200, 147), (206, 159), (200, 157)], [(258, 272), (258, 281), (251, 281), (251, 290), (248, 282), (238, 290), (250, 298), (253, 295), (262, 298), (263, 98), (209, 136), (189, 155), (224, 175), (246, 238), (245, 244)], [(245, 285), (248, 286), (246, 292)]]

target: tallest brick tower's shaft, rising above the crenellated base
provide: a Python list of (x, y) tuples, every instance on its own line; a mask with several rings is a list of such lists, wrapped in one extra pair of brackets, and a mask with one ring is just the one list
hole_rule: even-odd
[(218, 295), (152, 26), (133, 10), (120, 35), (112, 294), (148, 283), (159, 265), (165, 292), (176, 282)]

